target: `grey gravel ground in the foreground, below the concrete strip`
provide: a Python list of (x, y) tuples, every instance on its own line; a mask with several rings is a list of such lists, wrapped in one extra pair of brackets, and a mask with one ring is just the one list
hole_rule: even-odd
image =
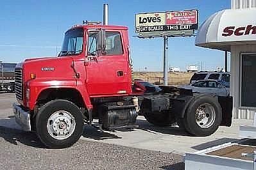
[(0, 169), (184, 169), (184, 164), (173, 153), (85, 140), (47, 149), (33, 133), (0, 127)]

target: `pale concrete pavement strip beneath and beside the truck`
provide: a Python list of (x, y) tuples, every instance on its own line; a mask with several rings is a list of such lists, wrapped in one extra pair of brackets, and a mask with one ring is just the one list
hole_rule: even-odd
[(193, 153), (219, 144), (243, 141), (239, 137), (239, 126), (252, 125), (252, 120), (233, 120), (232, 127), (219, 127), (214, 134), (207, 137), (191, 136), (178, 127), (155, 127), (142, 117), (139, 117), (137, 123), (139, 128), (132, 131), (103, 133), (87, 126), (81, 139), (183, 155), (185, 152)]

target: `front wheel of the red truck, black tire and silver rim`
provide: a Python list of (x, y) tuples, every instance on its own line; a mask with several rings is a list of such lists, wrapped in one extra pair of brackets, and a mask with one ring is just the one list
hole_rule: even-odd
[(72, 146), (83, 133), (81, 111), (67, 100), (47, 102), (36, 116), (36, 132), (48, 148)]

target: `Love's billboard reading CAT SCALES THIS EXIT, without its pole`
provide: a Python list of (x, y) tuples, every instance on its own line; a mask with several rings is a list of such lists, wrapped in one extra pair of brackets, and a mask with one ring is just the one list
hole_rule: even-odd
[(135, 16), (135, 32), (151, 33), (194, 31), (198, 29), (198, 11), (139, 13)]

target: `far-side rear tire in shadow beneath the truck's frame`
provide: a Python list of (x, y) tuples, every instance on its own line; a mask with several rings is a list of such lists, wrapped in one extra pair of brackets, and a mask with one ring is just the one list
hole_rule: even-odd
[(171, 122), (169, 112), (149, 112), (144, 113), (144, 117), (149, 123), (157, 127), (167, 127), (173, 123)]

